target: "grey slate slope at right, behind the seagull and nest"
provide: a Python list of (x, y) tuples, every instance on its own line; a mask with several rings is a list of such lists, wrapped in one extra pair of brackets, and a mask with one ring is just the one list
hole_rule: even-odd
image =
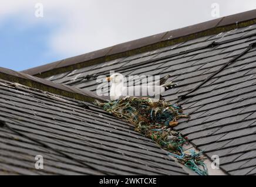
[(46, 79), (95, 92), (96, 77), (109, 75), (110, 70), (124, 75), (171, 74), (178, 86), (163, 96), (181, 103), (191, 116), (180, 120), (176, 130), (209, 158), (218, 155), (228, 174), (255, 175), (255, 43), (256, 25), (249, 25)]

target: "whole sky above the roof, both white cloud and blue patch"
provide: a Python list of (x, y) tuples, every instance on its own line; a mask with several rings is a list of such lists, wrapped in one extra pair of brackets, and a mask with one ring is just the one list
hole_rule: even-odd
[[(213, 13), (222, 17), (256, 9), (255, 0), (0, 0), (0, 3), (0, 67), (17, 71), (216, 19)], [(213, 11), (215, 3), (220, 5), (220, 15)]]

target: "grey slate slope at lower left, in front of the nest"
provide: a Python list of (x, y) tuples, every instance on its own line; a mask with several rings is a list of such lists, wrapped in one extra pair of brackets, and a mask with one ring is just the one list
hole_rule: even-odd
[[(44, 169), (35, 169), (42, 155)], [(92, 103), (0, 79), (0, 175), (187, 175)]]

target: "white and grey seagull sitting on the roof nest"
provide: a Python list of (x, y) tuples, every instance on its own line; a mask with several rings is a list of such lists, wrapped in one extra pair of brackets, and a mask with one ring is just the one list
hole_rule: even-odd
[(110, 81), (111, 83), (110, 100), (114, 101), (126, 96), (152, 97), (153, 95), (149, 94), (150, 91), (158, 91), (155, 92), (157, 94), (155, 94), (154, 96), (160, 96), (160, 94), (164, 91), (167, 91), (168, 89), (177, 86), (177, 84), (174, 84), (173, 82), (166, 82), (169, 77), (170, 75), (167, 75), (166, 77), (160, 79), (159, 82), (156, 82), (154, 85), (136, 85), (127, 87), (124, 86), (124, 77), (122, 74), (112, 74), (110, 77), (107, 77), (107, 81)]

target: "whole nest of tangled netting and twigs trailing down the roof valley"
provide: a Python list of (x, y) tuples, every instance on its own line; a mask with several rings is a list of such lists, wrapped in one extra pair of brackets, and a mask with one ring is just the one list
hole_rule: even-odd
[(183, 146), (188, 143), (187, 138), (173, 130), (173, 127), (178, 125), (178, 119), (188, 117), (183, 113), (181, 106), (171, 105), (163, 100), (153, 101), (151, 98), (136, 97), (108, 103), (96, 101), (95, 105), (125, 122), (134, 124), (136, 131), (154, 140), (181, 164), (197, 174), (208, 175), (202, 152), (184, 151)]

